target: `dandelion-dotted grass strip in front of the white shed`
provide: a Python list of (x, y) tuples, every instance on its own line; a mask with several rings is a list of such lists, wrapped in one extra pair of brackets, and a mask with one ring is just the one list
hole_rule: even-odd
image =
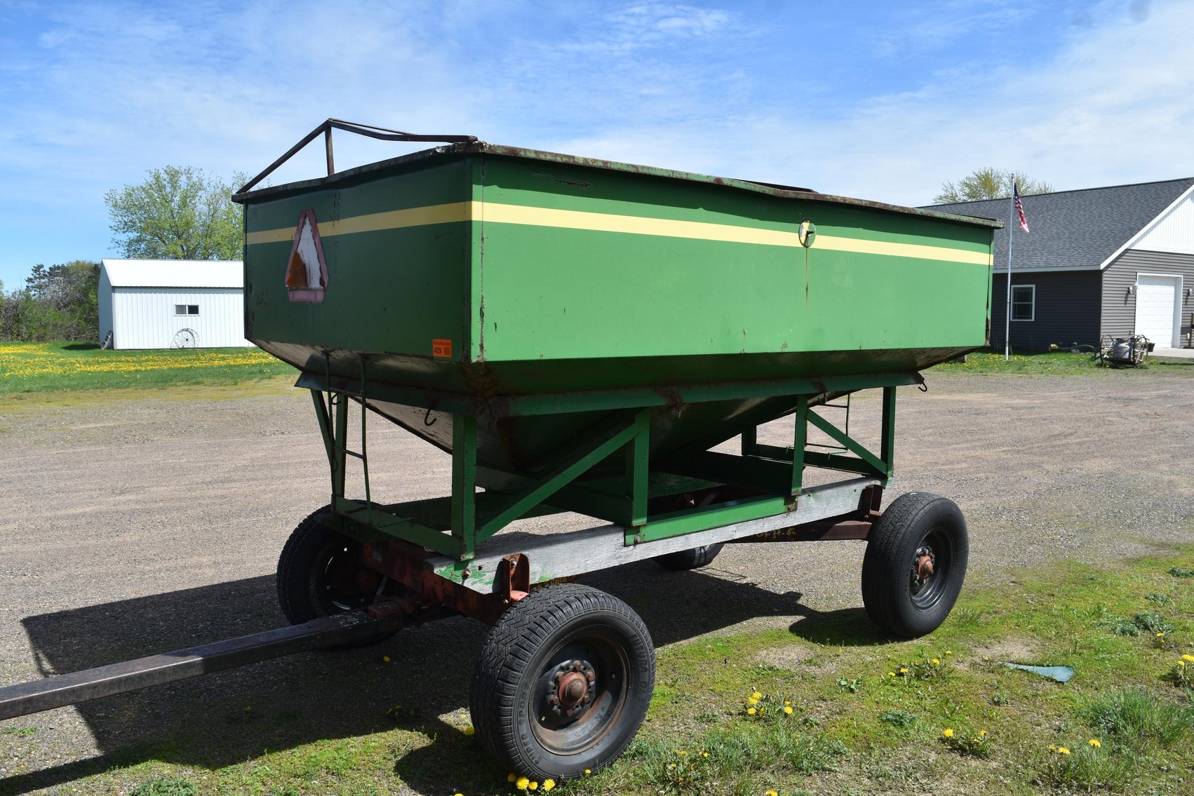
[(0, 343), (0, 393), (236, 384), (294, 372), (258, 348), (103, 351), (85, 343)]

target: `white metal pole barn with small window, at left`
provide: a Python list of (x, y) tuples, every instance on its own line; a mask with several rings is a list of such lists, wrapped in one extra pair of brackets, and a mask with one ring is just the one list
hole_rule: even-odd
[(240, 260), (104, 260), (99, 339), (111, 348), (223, 348), (245, 339)]

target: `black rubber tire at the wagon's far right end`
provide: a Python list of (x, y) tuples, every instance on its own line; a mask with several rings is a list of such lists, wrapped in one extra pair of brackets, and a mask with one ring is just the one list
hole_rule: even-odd
[[(931, 604), (917, 605), (910, 579), (912, 561), (930, 535), (940, 547), (949, 548), (949, 560), (938, 563), (938, 572), (933, 575), (940, 575), (944, 582), (935, 586), (937, 593)], [(942, 551), (936, 553), (941, 562)], [(875, 523), (867, 542), (862, 560), (862, 604), (867, 615), (901, 638), (933, 633), (958, 600), (968, 553), (966, 519), (954, 501), (927, 492), (900, 495)]]

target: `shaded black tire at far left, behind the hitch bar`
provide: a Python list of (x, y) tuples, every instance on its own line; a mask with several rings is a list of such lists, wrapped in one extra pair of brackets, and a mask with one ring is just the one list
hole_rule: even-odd
[[(302, 624), (320, 617), (353, 610), (336, 605), (327, 599), (325, 590), (320, 587), (319, 575), (326, 566), (331, 549), (341, 544), (357, 544), (322, 524), (322, 517), (331, 511), (331, 506), (324, 506), (308, 514), (291, 531), (290, 538), (287, 539), (282, 547), (282, 554), (278, 556), (275, 584), (278, 590), (278, 604), (290, 624)], [(386, 593), (392, 591), (396, 590), (387, 590)], [(361, 599), (364, 600), (364, 597)], [(373, 644), (389, 638), (396, 631), (380, 633), (349, 644), (337, 644), (331, 649)]]

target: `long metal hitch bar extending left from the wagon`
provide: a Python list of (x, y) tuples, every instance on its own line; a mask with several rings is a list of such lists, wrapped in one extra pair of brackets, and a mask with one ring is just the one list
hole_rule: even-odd
[(10, 685), (0, 689), (0, 721), (307, 649), (350, 643), (400, 629), (406, 612), (406, 606), (387, 600), (361, 611), (320, 617), (289, 628)]

